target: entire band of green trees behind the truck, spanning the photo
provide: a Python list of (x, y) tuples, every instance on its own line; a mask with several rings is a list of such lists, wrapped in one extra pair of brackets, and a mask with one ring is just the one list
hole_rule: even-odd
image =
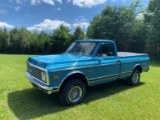
[(26, 28), (0, 29), (0, 53), (58, 54), (76, 39), (111, 39), (118, 51), (148, 53), (160, 59), (160, 5), (151, 0), (146, 10), (139, 0), (128, 6), (106, 6), (95, 16), (85, 33), (61, 25), (52, 33), (28, 31)]

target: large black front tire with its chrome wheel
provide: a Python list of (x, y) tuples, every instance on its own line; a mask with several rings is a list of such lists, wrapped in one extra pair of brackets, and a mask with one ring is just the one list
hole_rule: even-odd
[(76, 105), (81, 103), (86, 95), (86, 85), (79, 79), (65, 82), (59, 92), (59, 100), (63, 105)]

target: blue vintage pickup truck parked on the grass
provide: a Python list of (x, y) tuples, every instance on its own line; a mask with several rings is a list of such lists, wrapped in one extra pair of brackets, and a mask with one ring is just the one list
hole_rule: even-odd
[(29, 57), (26, 75), (37, 89), (58, 92), (62, 104), (75, 105), (82, 102), (88, 86), (119, 79), (137, 85), (149, 64), (147, 54), (117, 52), (111, 40), (76, 40), (65, 53)]

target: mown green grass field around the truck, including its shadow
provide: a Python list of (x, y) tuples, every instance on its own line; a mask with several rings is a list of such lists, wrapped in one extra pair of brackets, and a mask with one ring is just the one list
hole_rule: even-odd
[(160, 63), (151, 62), (139, 86), (122, 81), (88, 89), (82, 104), (62, 106), (57, 95), (46, 95), (25, 76), (27, 55), (0, 55), (0, 119), (158, 120)]

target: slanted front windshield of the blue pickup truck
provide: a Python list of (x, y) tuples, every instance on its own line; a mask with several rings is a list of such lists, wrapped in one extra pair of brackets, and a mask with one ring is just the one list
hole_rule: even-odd
[(78, 55), (91, 55), (96, 42), (73, 42), (67, 49), (66, 53), (78, 54)]

